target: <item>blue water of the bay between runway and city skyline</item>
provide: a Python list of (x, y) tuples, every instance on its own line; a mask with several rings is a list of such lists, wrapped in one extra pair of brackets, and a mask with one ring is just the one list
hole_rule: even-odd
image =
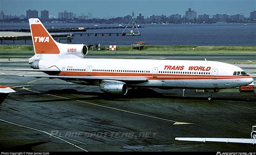
[[(93, 27), (95, 24), (46, 23), (46, 28)], [(118, 24), (97, 24), (98, 26), (117, 26)], [(76, 35), (72, 43), (101, 45), (131, 45), (146, 41), (148, 45), (256, 45), (256, 24), (140, 24), (141, 36), (87, 36)], [(0, 29), (29, 29), (28, 23), (1, 23)], [(87, 32), (119, 32), (123, 29), (87, 30)], [(62, 41), (65, 43), (65, 41)], [(4, 41), (3, 44), (12, 44)], [(16, 44), (25, 44), (16, 41)], [(27, 44), (31, 44), (28, 41)]]

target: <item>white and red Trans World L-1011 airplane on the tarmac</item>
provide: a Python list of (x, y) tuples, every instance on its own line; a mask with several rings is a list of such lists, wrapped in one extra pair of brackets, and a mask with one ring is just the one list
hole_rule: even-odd
[[(29, 24), (35, 55), (29, 58), (32, 69), (22, 71), (39, 71), (47, 75), (22, 77), (58, 78), (71, 83), (96, 85), (112, 95), (126, 95), (128, 87), (214, 91), (253, 82), (253, 78), (238, 66), (206, 59), (86, 58), (86, 45), (56, 42), (38, 18), (30, 18)], [(212, 91), (208, 100), (212, 98)]]

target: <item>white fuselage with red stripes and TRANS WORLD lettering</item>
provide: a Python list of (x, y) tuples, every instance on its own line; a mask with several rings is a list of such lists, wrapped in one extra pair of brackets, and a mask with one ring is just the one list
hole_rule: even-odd
[(148, 79), (142, 84), (128, 84), (136, 87), (225, 89), (253, 82), (248, 75), (234, 75), (234, 72), (243, 72), (237, 66), (206, 60), (54, 58), (39, 61), (39, 69), (52, 68), (61, 70), (59, 76)]

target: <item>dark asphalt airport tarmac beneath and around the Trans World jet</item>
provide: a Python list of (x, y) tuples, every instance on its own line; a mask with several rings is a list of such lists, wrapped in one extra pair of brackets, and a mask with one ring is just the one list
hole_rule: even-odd
[[(29, 69), (27, 59), (0, 60), (1, 68)], [(244, 65), (254, 71), (254, 65)], [(19, 88), (0, 105), (1, 151), (231, 151), (252, 144), (176, 141), (175, 137), (250, 138), (255, 93), (213, 94), (181, 89), (136, 89), (110, 97), (97, 86), (0, 71), (1, 85)]]

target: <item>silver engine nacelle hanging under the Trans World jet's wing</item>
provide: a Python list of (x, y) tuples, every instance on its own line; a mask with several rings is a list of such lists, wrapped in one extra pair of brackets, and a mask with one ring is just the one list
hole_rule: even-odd
[(104, 83), (100, 85), (100, 90), (111, 93), (113, 95), (126, 95), (127, 93), (127, 84), (123, 82), (116, 83)]

